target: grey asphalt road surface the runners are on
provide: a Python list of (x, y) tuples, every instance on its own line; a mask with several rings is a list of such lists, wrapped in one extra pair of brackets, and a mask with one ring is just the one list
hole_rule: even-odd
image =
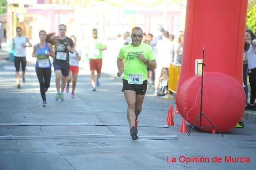
[[(64, 94), (61, 102), (54, 100), (52, 73), (48, 106), (42, 107), (34, 63), (27, 66), (26, 84), (17, 89), (13, 63), (0, 61), (1, 170), (255, 169), (255, 123), (245, 121), (244, 129), (224, 137), (197, 129), (188, 136), (179, 132), (180, 115), (174, 116), (174, 127), (165, 126), (167, 109), (175, 107), (175, 100), (156, 98), (148, 90), (139, 139), (133, 141), (121, 78), (103, 74), (101, 86), (92, 92), (89, 70), (80, 70), (76, 97)], [(215, 157), (222, 160), (214, 163)], [(234, 163), (229, 157), (242, 159)]]

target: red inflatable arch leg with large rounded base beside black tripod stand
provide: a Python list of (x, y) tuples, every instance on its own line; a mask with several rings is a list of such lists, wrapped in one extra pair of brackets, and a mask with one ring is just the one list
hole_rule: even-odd
[[(247, 4), (247, 0), (187, 2), (176, 103), (181, 116), (190, 124), (200, 111), (201, 77), (195, 76), (195, 59), (202, 59), (203, 47), (203, 112), (221, 132), (234, 128), (244, 113), (242, 66)], [(199, 121), (196, 125), (199, 126)], [(203, 119), (202, 126), (211, 124)]]

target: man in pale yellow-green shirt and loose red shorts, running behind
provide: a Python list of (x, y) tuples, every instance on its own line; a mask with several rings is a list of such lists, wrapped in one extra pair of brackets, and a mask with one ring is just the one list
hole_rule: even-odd
[[(99, 77), (101, 76), (102, 66), (102, 51), (106, 50), (107, 47), (97, 36), (97, 29), (93, 29), (93, 39), (90, 41), (89, 46), (89, 58), (90, 58), (90, 70), (91, 70), (91, 85), (93, 91), (96, 91), (96, 85), (99, 87)], [(94, 72), (97, 71), (96, 85)]]

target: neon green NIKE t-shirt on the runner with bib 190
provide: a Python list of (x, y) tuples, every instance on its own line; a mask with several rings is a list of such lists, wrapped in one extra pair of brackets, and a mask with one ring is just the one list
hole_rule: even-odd
[(155, 59), (155, 51), (148, 44), (141, 43), (138, 47), (129, 44), (121, 47), (118, 58), (124, 59), (124, 80), (128, 81), (129, 73), (142, 73), (143, 81), (147, 80), (147, 64), (138, 59), (140, 53), (149, 61)]

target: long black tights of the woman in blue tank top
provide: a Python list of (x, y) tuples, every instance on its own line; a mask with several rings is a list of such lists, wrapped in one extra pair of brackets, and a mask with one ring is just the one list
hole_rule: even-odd
[(48, 89), (50, 87), (52, 69), (35, 67), (35, 72), (37, 73), (37, 78), (40, 84), (40, 92), (41, 92), (42, 99), (43, 101), (46, 101), (45, 89)]

